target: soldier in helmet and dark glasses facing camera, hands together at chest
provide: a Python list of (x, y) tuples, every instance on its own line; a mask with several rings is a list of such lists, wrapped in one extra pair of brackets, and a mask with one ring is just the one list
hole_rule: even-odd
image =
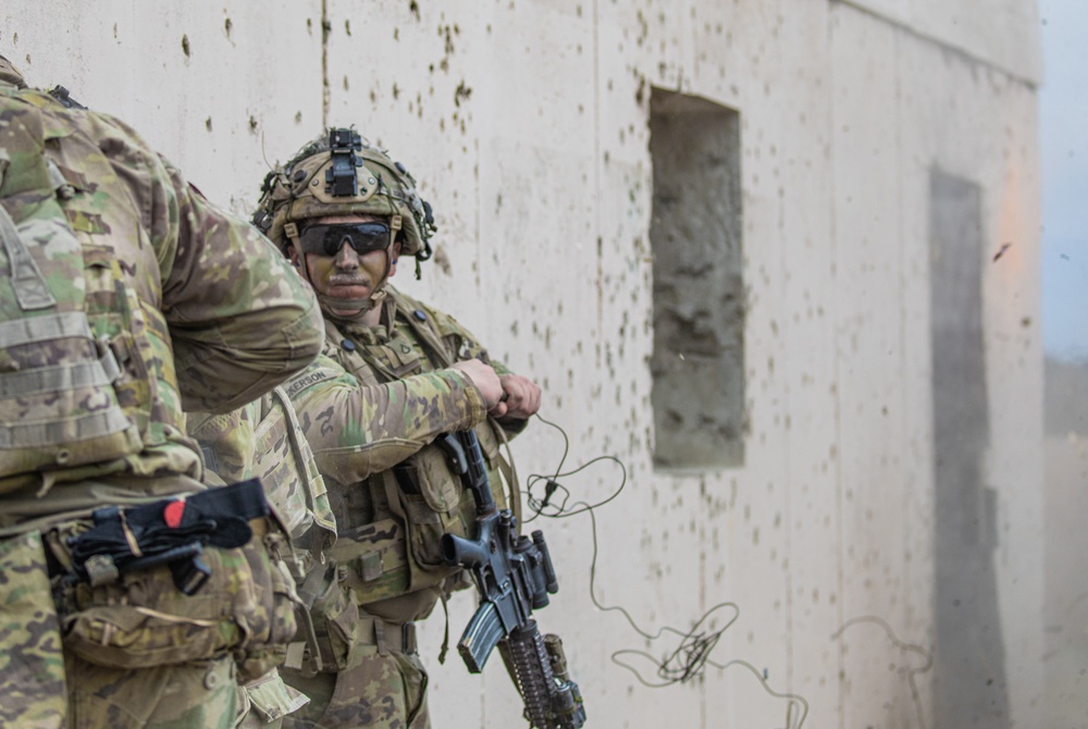
[[(388, 285), (399, 257), (416, 256), (417, 271), (429, 257), (433, 218), (404, 165), (354, 129), (331, 129), (271, 173), (254, 222), (313, 286), (325, 319), (322, 355), (285, 387), (338, 539), (325, 580), (300, 591), (320, 640), (288, 648), (284, 679), (311, 701), (285, 726), (429, 727), (415, 622), (466, 584), (442, 559), (442, 534), (474, 536), (471, 494), (432, 441), (474, 428), (505, 505), (503, 478), (511, 489), (516, 479), (500, 443), (536, 411), (540, 388), (490, 362), (454, 319)], [(453, 396), (406, 392), (408, 375)], [(385, 399), (367, 395), (383, 383)], [(361, 401), (385, 403), (376, 421)]]

